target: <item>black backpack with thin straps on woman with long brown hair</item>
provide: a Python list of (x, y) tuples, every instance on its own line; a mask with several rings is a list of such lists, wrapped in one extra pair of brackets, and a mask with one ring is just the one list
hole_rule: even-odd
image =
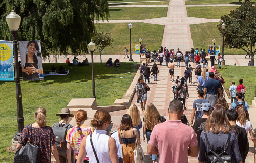
[(212, 150), (211, 147), (210, 147), (210, 143), (209, 143), (206, 132), (204, 133), (204, 135), (205, 135), (205, 139), (207, 141), (207, 145), (210, 148), (210, 152), (207, 153), (207, 155), (206, 155), (205, 163), (211, 163), (211, 162), (231, 163), (232, 157), (230, 155), (228, 155), (227, 152), (226, 152), (229, 141), (230, 141), (230, 137), (231, 137), (231, 129), (230, 129), (229, 134), (228, 134), (228, 139), (227, 139), (227, 143), (225, 145), (225, 149), (224, 149), (224, 151), (221, 151), (221, 152), (216, 152), (216, 151)]

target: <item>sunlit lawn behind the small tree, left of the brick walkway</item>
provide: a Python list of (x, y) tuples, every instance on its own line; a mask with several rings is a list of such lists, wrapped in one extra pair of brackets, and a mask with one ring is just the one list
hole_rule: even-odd
[[(96, 24), (96, 28), (100, 32), (112, 32), (113, 48), (105, 48), (103, 55), (120, 55), (124, 54), (124, 47), (130, 51), (130, 33), (129, 23), (101, 23)], [(142, 44), (150, 50), (157, 50), (161, 46), (163, 39), (164, 25), (133, 23), (131, 30), (132, 53), (134, 54), (134, 44), (139, 44), (139, 38), (142, 38)], [(95, 53), (99, 52), (95, 50)]]

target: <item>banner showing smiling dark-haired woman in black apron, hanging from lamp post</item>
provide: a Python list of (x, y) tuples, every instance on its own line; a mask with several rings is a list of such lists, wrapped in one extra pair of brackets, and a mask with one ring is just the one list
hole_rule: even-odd
[(41, 41), (19, 41), (23, 80), (44, 80)]

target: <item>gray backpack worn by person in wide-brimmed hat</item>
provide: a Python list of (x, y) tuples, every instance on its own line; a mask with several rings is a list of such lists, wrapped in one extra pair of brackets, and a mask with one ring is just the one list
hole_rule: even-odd
[(58, 123), (57, 127), (52, 127), (53, 133), (55, 135), (55, 145), (57, 149), (67, 149), (66, 135), (70, 124), (66, 123), (62, 125)]

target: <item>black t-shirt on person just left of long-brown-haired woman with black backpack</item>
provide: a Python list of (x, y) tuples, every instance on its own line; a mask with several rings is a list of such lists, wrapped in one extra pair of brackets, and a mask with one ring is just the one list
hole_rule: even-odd
[(198, 118), (195, 122), (194, 122), (194, 125), (193, 125), (193, 129), (195, 131), (195, 133), (197, 134), (197, 144), (198, 144), (198, 147), (200, 147), (200, 135), (202, 133), (202, 131), (205, 130), (205, 125), (206, 125), (206, 120), (207, 118)]

